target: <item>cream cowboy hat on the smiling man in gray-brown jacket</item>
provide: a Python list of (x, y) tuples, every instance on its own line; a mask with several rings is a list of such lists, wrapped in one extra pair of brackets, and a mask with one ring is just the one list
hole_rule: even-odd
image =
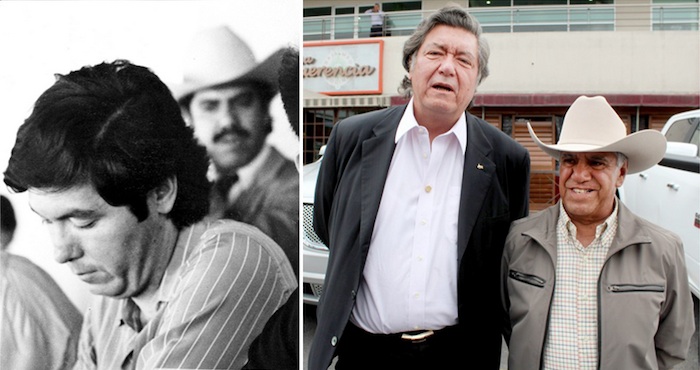
[(620, 152), (628, 159), (627, 173), (646, 170), (666, 153), (666, 138), (659, 131), (627, 135), (620, 116), (602, 96), (580, 96), (571, 104), (556, 144), (542, 143), (529, 122), (527, 128), (537, 146), (556, 159), (562, 152)]

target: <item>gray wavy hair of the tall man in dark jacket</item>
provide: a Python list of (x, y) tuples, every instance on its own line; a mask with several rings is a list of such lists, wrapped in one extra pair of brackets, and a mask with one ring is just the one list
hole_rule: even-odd
[[(403, 45), (402, 62), (406, 72), (411, 71), (411, 67), (415, 61), (415, 55), (418, 52), (418, 49), (420, 49), (421, 45), (423, 45), (428, 33), (439, 25), (463, 28), (476, 36), (479, 44), (479, 72), (477, 75), (477, 84), (481, 84), (481, 81), (483, 81), (489, 75), (488, 63), (491, 50), (489, 49), (488, 42), (483, 37), (481, 24), (479, 24), (479, 21), (458, 5), (448, 5), (441, 8), (430, 17), (421, 21), (416, 28), (416, 31)], [(408, 78), (408, 76), (404, 76), (403, 81), (401, 81), (399, 93), (403, 94), (406, 98), (411, 97), (413, 94), (411, 79)]]

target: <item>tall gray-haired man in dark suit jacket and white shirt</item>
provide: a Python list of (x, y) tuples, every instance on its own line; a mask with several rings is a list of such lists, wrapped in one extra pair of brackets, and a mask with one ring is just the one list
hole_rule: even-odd
[(525, 148), (466, 112), (488, 75), (481, 26), (438, 10), (405, 43), (407, 105), (329, 138), (314, 226), (330, 249), (309, 369), (498, 369), (500, 259), (528, 213)]

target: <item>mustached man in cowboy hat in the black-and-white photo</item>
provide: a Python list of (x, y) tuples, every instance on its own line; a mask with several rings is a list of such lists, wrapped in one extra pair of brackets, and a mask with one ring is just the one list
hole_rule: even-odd
[(282, 52), (258, 62), (229, 28), (203, 30), (187, 53), (183, 83), (172, 91), (213, 164), (210, 217), (262, 230), (284, 249), (298, 276), (299, 172), (266, 144)]

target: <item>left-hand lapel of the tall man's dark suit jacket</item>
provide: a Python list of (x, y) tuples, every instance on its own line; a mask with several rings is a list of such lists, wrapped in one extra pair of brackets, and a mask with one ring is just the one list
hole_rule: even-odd
[(372, 136), (362, 142), (360, 246), (365, 253), (369, 248), (374, 221), (379, 211), (379, 202), (396, 148), (394, 143), (396, 128), (399, 126), (404, 110), (405, 106), (403, 109), (389, 111), (374, 127)]

